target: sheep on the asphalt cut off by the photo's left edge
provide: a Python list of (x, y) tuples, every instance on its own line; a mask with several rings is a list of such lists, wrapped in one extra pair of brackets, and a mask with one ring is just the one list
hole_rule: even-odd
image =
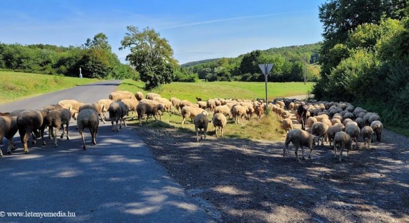
[[(12, 150), (15, 150), (13, 143), (13, 137), (17, 133), (17, 116), (10, 116), (2, 113), (0, 116), (0, 140), (5, 137), (8, 141), (7, 154), (11, 154)], [(3, 156), (3, 153), (0, 149), (0, 157)]]

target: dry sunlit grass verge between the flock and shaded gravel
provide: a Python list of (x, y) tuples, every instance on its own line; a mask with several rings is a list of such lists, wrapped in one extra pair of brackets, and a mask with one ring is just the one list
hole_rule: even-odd
[[(212, 120), (213, 113), (209, 113), (208, 119)], [(186, 119), (183, 126), (181, 125), (183, 118), (180, 114), (169, 115), (165, 112), (162, 115), (162, 120), (158, 122), (151, 116), (145, 123), (145, 119), (142, 120), (142, 128), (175, 128), (178, 131), (185, 133), (195, 134), (194, 124), (190, 118)], [(127, 119), (133, 126), (139, 126), (139, 120)], [(280, 127), (281, 123), (274, 114), (263, 115), (260, 120), (255, 115), (250, 120), (244, 119), (240, 124), (235, 124), (233, 119), (228, 118), (226, 127), (223, 130), (223, 137), (240, 138), (240, 139), (256, 139), (256, 140), (269, 140), (269, 141), (282, 141), (285, 136), (284, 130)], [(207, 135), (216, 136), (215, 127), (212, 123), (209, 123), (207, 129)]]

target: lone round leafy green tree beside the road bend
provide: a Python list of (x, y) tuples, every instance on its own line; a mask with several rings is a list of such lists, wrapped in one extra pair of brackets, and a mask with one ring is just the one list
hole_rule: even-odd
[(172, 82), (179, 65), (168, 41), (149, 27), (140, 31), (136, 26), (127, 26), (127, 30), (119, 50), (130, 50), (126, 60), (139, 72), (145, 88)]

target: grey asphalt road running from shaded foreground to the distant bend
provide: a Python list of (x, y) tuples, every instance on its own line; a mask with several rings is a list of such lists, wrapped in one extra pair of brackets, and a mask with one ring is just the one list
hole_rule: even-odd
[[(0, 106), (0, 112), (38, 109), (60, 100), (96, 102), (108, 98), (119, 81), (78, 86)], [(97, 145), (86, 130), (82, 150), (75, 122), (71, 140), (47, 138), (24, 154), (18, 135), (14, 155), (0, 145), (0, 222), (209, 222), (210, 217), (164, 167), (131, 127), (111, 131), (100, 124)], [(61, 132), (61, 131), (60, 131)], [(75, 217), (7, 217), (7, 212), (65, 212)], [(5, 212), (5, 217), (2, 217)], [(32, 215), (32, 214), (31, 214)]]

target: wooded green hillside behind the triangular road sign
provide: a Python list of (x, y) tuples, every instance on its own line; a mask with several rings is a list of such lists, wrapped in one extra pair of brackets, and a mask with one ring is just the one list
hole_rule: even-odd
[(315, 63), (319, 59), (320, 49), (320, 43), (271, 48), (234, 58), (189, 62), (182, 67), (186, 67), (189, 73), (197, 73), (200, 79), (207, 81), (264, 81), (258, 64), (273, 63), (273, 69), (268, 76), (269, 81), (303, 81), (305, 67), (307, 81), (318, 81), (320, 67)]

